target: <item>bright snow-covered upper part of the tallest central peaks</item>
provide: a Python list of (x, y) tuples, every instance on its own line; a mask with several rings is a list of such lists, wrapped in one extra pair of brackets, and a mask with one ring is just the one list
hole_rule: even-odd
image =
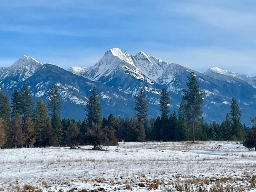
[[(116, 70), (123, 70), (126, 71), (127, 74), (150, 84), (152, 84), (153, 81), (160, 84), (161, 82), (168, 84), (172, 80), (172, 76), (168, 76), (168, 80), (162, 81), (162, 75), (166, 69), (176, 65), (177, 64), (168, 64), (144, 52), (139, 52), (135, 56), (132, 56), (119, 48), (112, 48), (105, 52), (104, 56), (94, 66), (86, 70), (83, 75), (71, 68), (69, 68), (68, 71), (92, 81), (98, 81), (102, 77), (111, 76)], [(167, 76), (165, 76), (165, 78), (166, 77)]]

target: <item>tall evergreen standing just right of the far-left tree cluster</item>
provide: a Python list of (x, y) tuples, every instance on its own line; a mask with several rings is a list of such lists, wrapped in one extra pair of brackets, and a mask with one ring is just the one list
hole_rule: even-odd
[(48, 110), (50, 113), (50, 116), (52, 117), (54, 114), (57, 114), (60, 116), (61, 108), (62, 108), (62, 102), (61, 102), (61, 96), (58, 89), (58, 86), (56, 84), (53, 84), (48, 92)]

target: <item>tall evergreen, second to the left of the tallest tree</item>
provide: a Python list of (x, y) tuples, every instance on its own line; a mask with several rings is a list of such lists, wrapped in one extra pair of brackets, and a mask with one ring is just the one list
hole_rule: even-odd
[(146, 93), (140, 89), (138, 95), (135, 97), (135, 117), (138, 118), (139, 122), (146, 120), (148, 116), (148, 102), (146, 101)]

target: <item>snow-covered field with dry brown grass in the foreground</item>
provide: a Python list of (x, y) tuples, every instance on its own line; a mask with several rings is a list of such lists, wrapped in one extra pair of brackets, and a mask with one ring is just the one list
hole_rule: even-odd
[(0, 149), (0, 191), (256, 191), (256, 152), (240, 142), (90, 148)]

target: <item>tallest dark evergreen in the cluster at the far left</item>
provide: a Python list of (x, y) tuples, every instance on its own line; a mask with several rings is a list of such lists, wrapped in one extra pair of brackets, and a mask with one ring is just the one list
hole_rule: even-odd
[(22, 88), (20, 88), (20, 98), (21, 98), (20, 114), (23, 116), (23, 120), (25, 122), (28, 116), (31, 117), (33, 115), (33, 110), (34, 110), (33, 94), (26, 84), (23, 84)]

